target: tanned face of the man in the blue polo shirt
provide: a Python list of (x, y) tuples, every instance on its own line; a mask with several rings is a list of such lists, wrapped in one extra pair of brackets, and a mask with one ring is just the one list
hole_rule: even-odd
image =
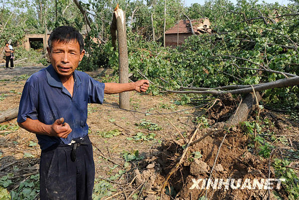
[(67, 43), (53, 41), (51, 50), (47, 48), (47, 51), (53, 68), (62, 77), (71, 76), (85, 54), (84, 50), (80, 52), (80, 45), (76, 40)]

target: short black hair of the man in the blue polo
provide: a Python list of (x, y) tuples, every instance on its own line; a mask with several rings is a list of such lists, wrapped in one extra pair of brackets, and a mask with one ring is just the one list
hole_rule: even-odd
[(52, 48), (52, 42), (69, 42), (76, 40), (80, 46), (80, 53), (84, 49), (83, 36), (72, 26), (59, 26), (55, 28), (48, 39), (48, 46)]

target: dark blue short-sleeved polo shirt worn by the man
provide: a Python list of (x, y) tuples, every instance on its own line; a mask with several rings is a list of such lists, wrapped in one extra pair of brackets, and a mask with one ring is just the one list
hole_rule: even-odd
[(36, 134), (41, 150), (55, 143), (68, 144), (72, 138), (87, 135), (87, 104), (103, 103), (104, 83), (82, 71), (75, 70), (73, 75), (73, 97), (62, 85), (52, 65), (32, 74), (24, 85), (17, 122), (30, 118), (51, 125), (63, 117), (72, 129), (67, 138)]

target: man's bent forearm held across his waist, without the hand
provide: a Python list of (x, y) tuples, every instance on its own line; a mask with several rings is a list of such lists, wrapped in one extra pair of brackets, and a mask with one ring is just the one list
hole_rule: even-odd
[(46, 134), (50, 135), (51, 125), (46, 125), (39, 120), (32, 120), (27, 118), (23, 123), (17, 123), (21, 128), (27, 130), (28, 132), (35, 134)]

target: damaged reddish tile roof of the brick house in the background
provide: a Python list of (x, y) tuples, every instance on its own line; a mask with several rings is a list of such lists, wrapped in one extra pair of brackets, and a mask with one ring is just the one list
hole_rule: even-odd
[[(191, 20), (192, 26), (193, 26), (193, 30), (194, 32), (199, 32), (199, 30), (201, 31), (205, 31), (205, 29), (203, 28), (204, 25), (206, 25), (207, 29), (210, 28), (210, 22), (208, 18), (202, 18), (202, 19), (196, 19), (196, 20)], [(191, 27), (190, 27), (190, 22), (189, 20), (179, 20), (178, 25), (177, 23), (169, 28), (165, 34), (173, 34), (173, 33), (177, 33), (177, 26), (178, 26), (178, 33), (191, 33)]]

